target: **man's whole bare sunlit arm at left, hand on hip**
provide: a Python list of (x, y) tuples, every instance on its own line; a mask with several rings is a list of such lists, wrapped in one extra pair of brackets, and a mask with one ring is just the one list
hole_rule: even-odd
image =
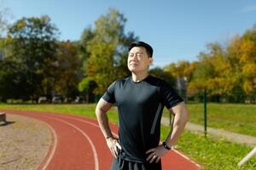
[(96, 105), (96, 117), (99, 122), (99, 126), (101, 127), (102, 133), (107, 141), (109, 150), (114, 157), (117, 157), (119, 150), (121, 150), (121, 146), (119, 145), (117, 139), (113, 137), (108, 124), (107, 116), (107, 112), (111, 109), (112, 106), (113, 104), (108, 103), (101, 98)]

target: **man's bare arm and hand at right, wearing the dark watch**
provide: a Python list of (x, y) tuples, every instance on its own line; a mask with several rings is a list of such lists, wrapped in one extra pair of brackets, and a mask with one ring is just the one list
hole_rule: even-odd
[[(173, 144), (177, 141), (186, 123), (189, 121), (189, 111), (184, 102), (180, 102), (178, 105), (170, 108), (169, 111), (174, 114), (173, 127), (166, 138), (167, 147), (172, 148)], [(161, 144), (158, 147), (148, 150), (146, 153), (149, 154), (147, 161), (160, 161), (160, 158), (167, 153), (167, 149)]]

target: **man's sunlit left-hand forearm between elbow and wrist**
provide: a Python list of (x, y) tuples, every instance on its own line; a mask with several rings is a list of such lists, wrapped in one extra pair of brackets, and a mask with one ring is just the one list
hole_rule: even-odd
[(105, 139), (108, 139), (109, 137), (113, 137), (113, 134), (111, 133), (111, 130), (108, 124), (108, 116), (106, 111), (102, 111), (101, 109), (96, 109), (96, 116)]

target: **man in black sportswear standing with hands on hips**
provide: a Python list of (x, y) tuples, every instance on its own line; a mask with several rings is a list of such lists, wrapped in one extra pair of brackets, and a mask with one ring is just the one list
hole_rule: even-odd
[[(159, 170), (160, 158), (171, 150), (189, 120), (188, 110), (174, 90), (162, 79), (148, 73), (153, 48), (132, 42), (127, 66), (131, 77), (116, 80), (96, 105), (96, 116), (108, 148), (114, 156), (111, 169)], [(108, 110), (116, 104), (119, 139), (108, 125)], [(164, 106), (175, 115), (173, 130), (160, 144), (160, 118)]]

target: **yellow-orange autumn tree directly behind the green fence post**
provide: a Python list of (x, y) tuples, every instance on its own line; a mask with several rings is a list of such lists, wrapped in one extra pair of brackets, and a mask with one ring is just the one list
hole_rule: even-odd
[(207, 44), (207, 53), (199, 54), (199, 62), (194, 64), (194, 71), (189, 81), (189, 95), (201, 94), (207, 89), (209, 98), (219, 101), (222, 94), (230, 91), (226, 74), (229, 72), (226, 54), (217, 42)]

